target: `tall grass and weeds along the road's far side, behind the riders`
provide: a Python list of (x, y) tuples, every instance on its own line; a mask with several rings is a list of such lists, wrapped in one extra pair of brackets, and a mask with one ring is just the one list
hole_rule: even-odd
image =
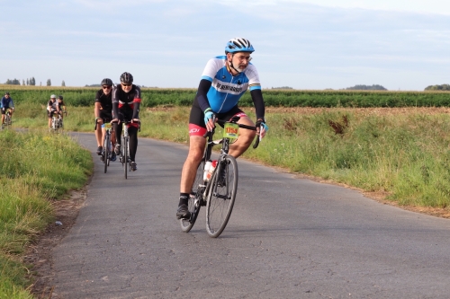
[[(21, 107), (16, 113), (17, 126), (47, 126), (45, 112), (38, 105)], [(253, 108), (245, 110), (255, 119)], [(450, 206), (448, 111), (269, 107), (266, 120), (270, 132), (257, 150), (250, 148), (244, 156), (380, 192), (399, 205), (447, 208)], [(93, 132), (92, 114), (92, 107), (68, 107), (66, 129)], [(139, 136), (187, 144), (188, 117), (188, 107), (143, 109)]]

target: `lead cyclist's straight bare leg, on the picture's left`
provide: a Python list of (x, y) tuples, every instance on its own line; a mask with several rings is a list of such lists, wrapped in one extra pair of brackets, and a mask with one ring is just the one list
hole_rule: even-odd
[(183, 171), (181, 171), (181, 193), (191, 193), (198, 164), (202, 161), (205, 143), (206, 139), (203, 136), (189, 137), (189, 152), (183, 165)]

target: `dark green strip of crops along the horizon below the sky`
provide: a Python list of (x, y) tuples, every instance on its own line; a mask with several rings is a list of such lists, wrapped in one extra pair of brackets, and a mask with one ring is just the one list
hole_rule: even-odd
[[(63, 95), (67, 105), (91, 106), (98, 88), (31, 87), (0, 85), (0, 94), (11, 92), (14, 103), (40, 102), (46, 104), (50, 94)], [(189, 106), (194, 89), (142, 89), (142, 106)], [(373, 91), (273, 91), (263, 90), (266, 106), (275, 107), (447, 107), (450, 92), (373, 92)], [(240, 106), (252, 106), (246, 92)]]

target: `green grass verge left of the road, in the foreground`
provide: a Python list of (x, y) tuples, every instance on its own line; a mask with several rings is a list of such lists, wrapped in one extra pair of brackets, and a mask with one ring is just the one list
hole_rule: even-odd
[(53, 220), (50, 199), (85, 184), (91, 155), (68, 136), (0, 132), (0, 298), (31, 298), (27, 245)]

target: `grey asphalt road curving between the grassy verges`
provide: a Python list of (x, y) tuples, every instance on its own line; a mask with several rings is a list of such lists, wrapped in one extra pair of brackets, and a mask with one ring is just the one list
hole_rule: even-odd
[[(450, 298), (450, 221), (238, 160), (211, 239), (175, 219), (185, 145), (139, 138), (139, 170), (94, 154), (76, 225), (53, 251), (58, 298)], [(264, 143), (262, 144), (264, 146)], [(250, 149), (252, 150), (252, 149)]]

